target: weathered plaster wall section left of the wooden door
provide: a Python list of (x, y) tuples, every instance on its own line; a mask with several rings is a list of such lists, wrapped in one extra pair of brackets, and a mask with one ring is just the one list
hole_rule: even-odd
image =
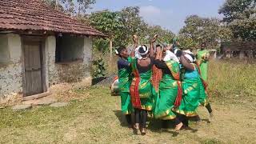
[[(2, 37), (3, 38), (3, 37)], [(22, 42), (18, 34), (4, 36), (9, 62), (0, 66), (0, 97), (22, 93)]]

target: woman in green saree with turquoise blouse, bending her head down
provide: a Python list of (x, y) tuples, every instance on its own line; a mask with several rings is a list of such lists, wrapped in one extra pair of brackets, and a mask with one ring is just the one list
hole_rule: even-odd
[(174, 111), (180, 114), (180, 119), (185, 126), (188, 126), (188, 118), (197, 116), (197, 108), (199, 103), (199, 74), (194, 64), (194, 54), (189, 50), (183, 52), (181, 56), (182, 63), (182, 90), (183, 97), (181, 105), (174, 108)]

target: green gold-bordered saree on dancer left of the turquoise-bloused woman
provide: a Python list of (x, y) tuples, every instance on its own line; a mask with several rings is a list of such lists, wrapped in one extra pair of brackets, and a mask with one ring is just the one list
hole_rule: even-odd
[[(163, 74), (159, 86), (159, 96), (156, 100), (154, 117), (162, 120), (170, 120), (176, 118), (172, 111), (174, 103), (178, 95), (179, 64), (178, 62), (166, 62), (171, 74)], [(177, 78), (178, 76), (178, 78)]]

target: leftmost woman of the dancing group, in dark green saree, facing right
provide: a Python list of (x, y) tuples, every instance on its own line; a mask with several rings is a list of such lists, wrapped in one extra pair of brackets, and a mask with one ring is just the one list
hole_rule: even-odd
[(126, 115), (126, 121), (131, 126), (131, 112), (133, 107), (130, 102), (130, 82), (131, 82), (131, 58), (127, 54), (126, 47), (121, 46), (116, 50), (118, 59), (118, 88), (121, 96), (122, 114)]

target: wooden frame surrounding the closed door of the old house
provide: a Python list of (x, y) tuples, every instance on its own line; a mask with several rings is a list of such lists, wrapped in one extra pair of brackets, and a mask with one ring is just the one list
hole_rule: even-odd
[(26, 97), (26, 70), (25, 70), (25, 49), (24, 43), (25, 42), (41, 42), (40, 45), (40, 55), (41, 55), (41, 77), (42, 77), (42, 93), (47, 91), (46, 86), (46, 49), (45, 49), (45, 42), (46, 38), (43, 36), (35, 36), (35, 35), (22, 35), (22, 89), (23, 89), (23, 97)]

